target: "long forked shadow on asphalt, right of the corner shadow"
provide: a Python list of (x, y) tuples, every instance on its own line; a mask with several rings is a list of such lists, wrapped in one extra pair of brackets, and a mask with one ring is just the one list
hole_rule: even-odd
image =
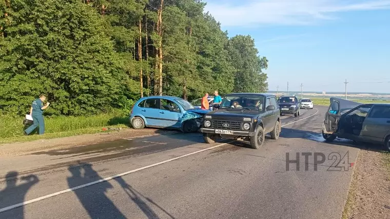
[[(69, 171), (72, 173), (72, 176), (68, 178), (69, 188), (103, 180), (103, 178), (101, 178), (99, 174), (93, 170), (92, 165), (89, 163), (79, 163), (76, 166), (70, 166)], [(154, 203), (151, 199), (146, 198), (140, 192), (132, 188), (121, 177), (114, 178), (114, 180), (118, 182), (118, 184), (127, 193), (130, 200), (142, 210), (145, 214), (145, 217), (143, 218), (159, 218), (158, 214), (153, 211), (150, 205), (163, 211), (169, 216), (169, 218), (174, 218), (158, 204)], [(113, 188), (113, 185), (109, 181), (102, 181), (90, 187), (75, 189), (73, 192), (92, 219), (126, 218), (126, 216), (108, 198), (106, 193), (108, 189), (111, 188)]]

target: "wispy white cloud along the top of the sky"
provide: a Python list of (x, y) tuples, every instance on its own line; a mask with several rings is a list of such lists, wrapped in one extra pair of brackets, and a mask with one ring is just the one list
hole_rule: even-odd
[(310, 25), (337, 19), (341, 12), (390, 9), (390, 0), (242, 0), (240, 5), (228, 1), (209, 0), (205, 8), (225, 27)]

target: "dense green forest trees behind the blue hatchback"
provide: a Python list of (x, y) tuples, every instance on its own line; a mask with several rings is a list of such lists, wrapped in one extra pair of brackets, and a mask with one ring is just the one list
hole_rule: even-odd
[(47, 94), (52, 115), (144, 95), (267, 90), (250, 36), (228, 38), (200, 0), (0, 0), (0, 113)]

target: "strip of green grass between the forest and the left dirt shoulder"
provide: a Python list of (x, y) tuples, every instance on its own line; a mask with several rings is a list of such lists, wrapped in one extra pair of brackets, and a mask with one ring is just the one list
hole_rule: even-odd
[(0, 116), (0, 143), (25, 142), (37, 139), (50, 139), (82, 134), (104, 132), (103, 127), (129, 127), (128, 116), (115, 112), (95, 116), (50, 117), (45, 118), (45, 134), (37, 135), (37, 129), (24, 136), (24, 117)]

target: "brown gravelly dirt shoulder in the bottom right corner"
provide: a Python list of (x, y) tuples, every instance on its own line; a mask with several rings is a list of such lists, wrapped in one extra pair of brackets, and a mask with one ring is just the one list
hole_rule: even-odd
[(390, 170), (384, 156), (388, 154), (360, 150), (344, 218), (390, 218)]

